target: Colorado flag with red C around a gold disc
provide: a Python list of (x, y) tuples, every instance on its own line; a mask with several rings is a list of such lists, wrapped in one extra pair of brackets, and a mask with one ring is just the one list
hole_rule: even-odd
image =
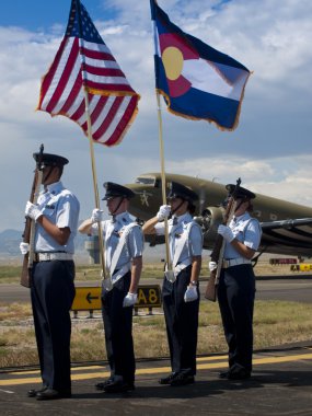
[(174, 25), (150, 0), (154, 28), (155, 86), (167, 109), (190, 119), (206, 119), (222, 130), (239, 123), (251, 72), (230, 56)]

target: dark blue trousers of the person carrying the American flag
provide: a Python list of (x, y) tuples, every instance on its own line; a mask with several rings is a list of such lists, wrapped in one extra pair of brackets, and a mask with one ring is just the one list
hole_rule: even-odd
[(102, 291), (102, 315), (111, 375), (123, 375), (124, 381), (128, 383), (135, 381), (136, 372), (132, 339), (134, 307), (123, 308), (130, 281), (131, 273), (128, 271), (112, 290)]

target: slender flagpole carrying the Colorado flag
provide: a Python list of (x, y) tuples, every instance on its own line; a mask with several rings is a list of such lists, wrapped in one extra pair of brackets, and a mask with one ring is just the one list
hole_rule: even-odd
[[(161, 162), (161, 189), (162, 189), (162, 204), (166, 205), (166, 194), (165, 194), (165, 170), (164, 170), (164, 147), (162, 137), (162, 117), (161, 117), (161, 102), (160, 94), (157, 92), (157, 104), (158, 104), (158, 122), (159, 122), (159, 145), (160, 145), (160, 162)], [(169, 250), (169, 228), (167, 219), (164, 219), (164, 240), (165, 240), (165, 259), (167, 270), (172, 270), (172, 259)]]

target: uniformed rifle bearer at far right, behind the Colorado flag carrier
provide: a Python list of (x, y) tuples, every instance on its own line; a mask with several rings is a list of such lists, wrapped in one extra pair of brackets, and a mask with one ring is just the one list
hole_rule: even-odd
[[(227, 185), (227, 189), (231, 195), (235, 185)], [(229, 227), (218, 228), (226, 241), (218, 302), (229, 346), (229, 370), (221, 372), (220, 378), (243, 380), (252, 372), (255, 276), (251, 258), (258, 249), (262, 229), (258, 220), (249, 213), (255, 194), (240, 187), (234, 195), (234, 216)], [(210, 262), (210, 270), (213, 267), (216, 263)]]

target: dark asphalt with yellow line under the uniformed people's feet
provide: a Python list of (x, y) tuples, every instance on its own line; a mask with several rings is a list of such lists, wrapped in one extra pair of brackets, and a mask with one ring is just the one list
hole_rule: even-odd
[(167, 360), (137, 363), (136, 390), (124, 394), (97, 392), (108, 375), (105, 363), (72, 368), (72, 397), (38, 402), (26, 392), (41, 386), (37, 370), (0, 373), (1, 415), (312, 415), (312, 343), (254, 353), (250, 380), (218, 378), (224, 355), (198, 357), (195, 384), (160, 385), (170, 372)]

